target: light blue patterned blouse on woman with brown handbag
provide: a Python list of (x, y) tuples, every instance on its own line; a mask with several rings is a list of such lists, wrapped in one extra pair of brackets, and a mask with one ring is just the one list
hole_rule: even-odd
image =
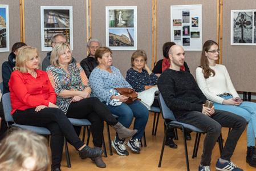
[(97, 97), (100, 101), (106, 101), (107, 105), (111, 101), (111, 96), (116, 93), (116, 91), (111, 90), (117, 87), (132, 88), (116, 67), (111, 66), (110, 68), (112, 73), (96, 67), (92, 70), (89, 78), (92, 96)]

